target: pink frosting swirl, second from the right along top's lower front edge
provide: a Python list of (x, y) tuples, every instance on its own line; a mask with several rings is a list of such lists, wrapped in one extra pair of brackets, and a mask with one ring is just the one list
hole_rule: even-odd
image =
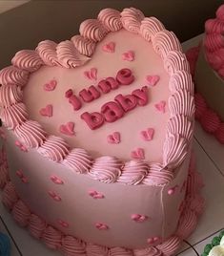
[(141, 160), (131, 160), (125, 163), (122, 168), (122, 175), (118, 181), (124, 184), (136, 185), (147, 175), (149, 166)]

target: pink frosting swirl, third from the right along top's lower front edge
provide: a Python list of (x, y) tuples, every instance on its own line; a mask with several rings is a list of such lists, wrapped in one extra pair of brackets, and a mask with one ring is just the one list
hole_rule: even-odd
[(94, 161), (89, 175), (93, 180), (115, 182), (121, 175), (122, 162), (113, 157), (101, 157)]

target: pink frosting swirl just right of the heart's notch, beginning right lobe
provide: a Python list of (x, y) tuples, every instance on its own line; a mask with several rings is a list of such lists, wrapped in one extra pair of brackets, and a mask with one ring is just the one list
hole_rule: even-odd
[(71, 41), (79, 53), (86, 56), (91, 56), (94, 53), (95, 43), (92, 40), (76, 34), (71, 37)]

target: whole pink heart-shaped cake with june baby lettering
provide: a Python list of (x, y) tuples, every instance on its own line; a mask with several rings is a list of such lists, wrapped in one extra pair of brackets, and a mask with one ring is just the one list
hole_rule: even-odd
[(0, 72), (3, 203), (69, 256), (173, 255), (203, 209), (186, 56), (133, 8), (79, 31)]

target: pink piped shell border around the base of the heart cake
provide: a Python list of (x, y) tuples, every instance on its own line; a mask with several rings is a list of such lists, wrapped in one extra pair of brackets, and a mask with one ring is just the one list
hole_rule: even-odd
[[(35, 238), (42, 239), (43, 242), (45, 242), (45, 244), (47, 246), (49, 246), (53, 249), (58, 249), (58, 250), (61, 250), (62, 252), (66, 252), (67, 256), (72, 256), (75, 254), (75, 253), (73, 254), (73, 251), (76, 249), (75, 246), (78, 243), (83, 249), (83, 253), (82, 253), (83, 256), (95, 255), (95, 254), (92, 254), (92, 252), (90, 253), (90, 251), (87, 252), (89, 250), (89, 246), (95, 246), (100, 251), (105, 250), (106, 252), (105, 252), (104, 256), (111, 256), (111, 250), (113, 250), (114, 248), (117, 248), (117, 250), (120, 249), (120, 254), (117, 254), (119, 256), (123, 255), (121, 252), (123, 252), (124, 255), (130, 255), (130, 256), (139, 256), (139, 255), (171, 256), (177, 251), (177, 249), (181, 245), (181, 242), (184, 239), (186, 239), (188, 236), (190, 236), (190, 234), (193, 232), (193, 229), (195, 228), (198, 218), (201, 215), (201, 213), (203, 212), (204, 200), (199, 195), (199, 190), (202, 188), (203, 182), (201, 180), (201, 177), (200, 176), (198, 177), (198, 176), (199, 176), (199, 174), (194, 170), (194, 160), (192, 157), (190, 166), (189, 166), (189, 176), (188, 176), (189, 178), (188, 178), (188, 182), (187, 182), (191, 185), (189, 185), (189, 186), (187, 185), (187, 187), (189, 187), (189, 188), (187, 189), (186, 198), (181, 203), (182, 205), (184, 205), (184, 207), (182, 208), (183, 214), (180, 218), (180, 221), (176, 228), (175, 234), (173, 234), (169, 239), (165, 240), (160, 245), (151, 246), (151, 247), (142, 248), (142, 249), (132, 249), (132, 250), (131, 249), (126, 250), (123, 247), (107, 248), (107, 247), (101, 246), (101, 245), (87, 244), (84, 241), (76, 239), (72, 236), (66, 236), (61, 231), (52, 227), (50, 224), (46, 224), (45, 222), (43, 222), (43, 223), (45, 223), (45, 225), (41, 229), (38, 230), (39, 235), (36, 236)], [(1, 175), (0, 175), (0, 178), (3, 179), (3, 177)], [(24, 204), (19, 199), (18, 195), (16, 194), (16, 192), (14, 190), (13, 190), (13, 193), (12, 193), (13, 195), (11, 198), (7, 194), (7, 192), (6, 192), (7, 189), (5, 189), (5, 188), (7, 188), (9, 184), (10, 185), (12, 184), (11, 181), (9, 180), (9, 177), (7, 179), (5, 179), (5, 181), (3, 181), (3, 183), (5, 183), (5, 186), (2, 187), (3, 198), (4, 198), (4, 195), (6, 195), (7, 200), (8, 200), (8, 205), (5, 205), (5, 206), (7, 206), (10, 209), (12, 216), (15, 220), (18, 220), (20, 222), (20, 224), (22, 224), (23, 226), (28, 226), (30, 224), (31, 217), (34, 216), (34, 217), (38, 218), (38, 216), (31, 213), (29, 208), (26, 206), (26, 204)], [(21, 215), (19, 216), (20, 217), (19, 219), (16, 219), (16, 215), (14, 215), (13, 212), (17, 211), (18, 202), (20, 205), (22, 204), (22, 206), (25, 205), (26, 209), (25, 209), (24, 215), (18, 209), (19, 213)], [(48, 233), (48, 232), (50, 232), (50, 233)], [(45, 236), (44, 236), (45, 234), (47, 234), (47, 238), (48, 238), (47, 240), (45, 239)], [(69, 249), (68, 249), (68, 247), (63, 245), (63, 239), (65, 239), (65, 238), (71, 238), (76, 243), (73, 244), (73, 247), (72, 247), (72, 243), (71, 243), (69, 245)], [(79, 249), (79, 247), (77, 249)], [(71, 250), (71, 253), (69, 253), (69, 250)], [(128, 252), (130, 254), (128, 254)], [(153, 252), (156, 252), (156, 254), (152, 254)], [(102, 254), (99, 253), (97, 255), (102, 255)]]

